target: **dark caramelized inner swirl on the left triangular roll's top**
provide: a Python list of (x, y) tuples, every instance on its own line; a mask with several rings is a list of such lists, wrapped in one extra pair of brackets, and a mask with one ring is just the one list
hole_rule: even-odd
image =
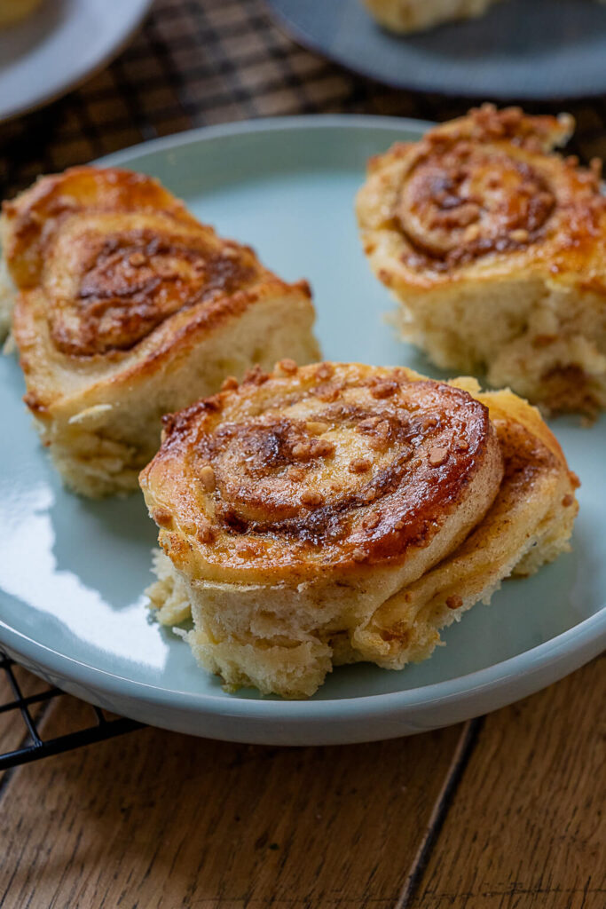
[(257, 274), (253, 255), (235, 244), (217, 246), (152, 215), (144, 227), (140, 216), (122, 215), (119, 229), (108, 220), (83, 218), (55, 246), (68, 292), (48, 287), (48, 318), (64, 354), (129, 350), (168, 316), (233, 293)]

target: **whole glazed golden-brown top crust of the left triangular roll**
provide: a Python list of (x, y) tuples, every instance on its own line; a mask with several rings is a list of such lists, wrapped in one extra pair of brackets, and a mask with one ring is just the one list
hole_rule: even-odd
[(76, 167), (3, 206), (15, 284), (45, 295), (65, 355), (126, 351), (164, 320), (266, 275), (150, 177)]

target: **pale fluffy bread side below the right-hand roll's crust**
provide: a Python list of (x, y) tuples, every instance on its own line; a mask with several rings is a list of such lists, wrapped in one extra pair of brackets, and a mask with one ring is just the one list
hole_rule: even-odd
[(547, 411), (606, 407), (603, 295), (541, 277), (461, 282), (406, 294), (394, 314), (402, 336), (442, 369), (483, 373)]

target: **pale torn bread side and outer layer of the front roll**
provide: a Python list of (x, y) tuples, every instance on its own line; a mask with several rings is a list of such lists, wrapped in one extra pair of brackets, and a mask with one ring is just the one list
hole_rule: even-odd
[(178, 624), (191, 613), (187, 640), (197, 661), (230, 690), (252, 684), (263, 694), (307, 697), (333, 664), (418, 662), (440, 642), (440, 628), (488, 602), (503, 578), (531, 574), (569, 548), (576, 481), (538, 412), (509, 392), (457, 385), (489, 407), (505, 474), (472, 532), (412, 582), (393, 590), (379, 572), (324, 586), (318, 596), (313, 584), (210, 583), (155, 555), (158, 581), (147, 593), (159, 620)]

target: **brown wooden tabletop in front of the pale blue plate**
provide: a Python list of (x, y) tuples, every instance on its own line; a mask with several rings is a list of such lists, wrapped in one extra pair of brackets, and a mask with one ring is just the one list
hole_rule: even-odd
[[(392, 742), (144, 729), (8, 771), (0, 906), (604, 909), (605, 669)], [(88, 709), (65, 695), (40, 726)]]

